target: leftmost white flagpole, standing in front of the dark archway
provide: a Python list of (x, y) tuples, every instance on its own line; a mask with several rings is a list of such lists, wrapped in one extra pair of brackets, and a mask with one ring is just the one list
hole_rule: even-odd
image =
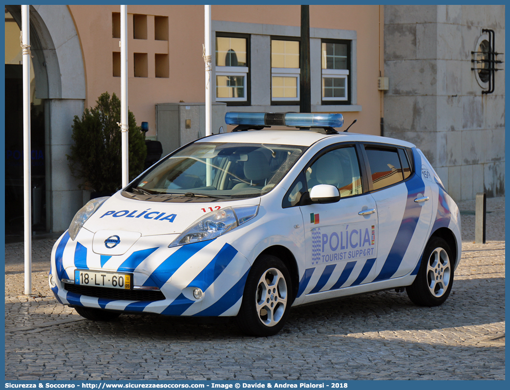
[(32, 181), (30, 155), (30, 6), (21, 6), (21, 47), (23, 58), (23, 226), (25, 289), (32, 294)]

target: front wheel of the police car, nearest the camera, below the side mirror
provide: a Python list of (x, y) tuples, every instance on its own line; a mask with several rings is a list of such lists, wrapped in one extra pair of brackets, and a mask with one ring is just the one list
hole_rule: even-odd
[(285, 325), (292, 304), (292, 282), (282, 260), (260, 256), (244, 286), (237, 323), (251, 336), (272, 336)]

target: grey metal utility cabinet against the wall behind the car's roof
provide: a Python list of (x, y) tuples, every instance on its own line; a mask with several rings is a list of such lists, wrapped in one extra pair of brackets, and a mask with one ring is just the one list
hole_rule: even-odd
[[(213, 134), (220, 127), (226, 132), (226, 103), (212, 104)], [(161, 142), (163, 156), (206, 136), (205, 103), (158, 103), (156, 105), (156, 139)]]

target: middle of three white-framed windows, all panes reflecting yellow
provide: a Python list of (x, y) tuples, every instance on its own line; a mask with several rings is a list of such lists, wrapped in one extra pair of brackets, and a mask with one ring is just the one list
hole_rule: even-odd
[(271, 39), (271, 102), (299, 101), (299, 41)]

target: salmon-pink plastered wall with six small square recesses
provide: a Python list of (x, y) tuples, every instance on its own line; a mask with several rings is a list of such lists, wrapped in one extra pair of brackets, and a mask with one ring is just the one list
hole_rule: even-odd
[[(310, 6), (312, 28), (355, 30), (358, 34), (358, 105), (361, 112), (344, 113), (351, 130), (379, 133), (381, 92), (379, 76), (379, 6)], [(86, 107), (108, 91), (120, 95), (120, 77), (113, 77), (112, 53), (120, 52), (119, 38), (112, 38), (112, 12), (119, 6), (70, 5), (69, 10), (82, 44), (87, 83)], [(155, 104), (205, 101), (205, 74), (202, 59), (203, 6), (127, 6), (129, 102), (138, 125), (149, 123), (154, 135)], [(133, 38), (133, 14), (147, 16), (146, 40)], [(168, 41), (154, 40), (154, 15), (168, 16)], [(249, 23), (300, 25), (300, 6), (212, 6), (212, 19)], [(134, 77), (133, 53), (147, 53), (148, 77)], [(169, 78), (155, 77), (155, 54), (168, 54)], [(382, 69), (381, 69), (382, 70)]]

